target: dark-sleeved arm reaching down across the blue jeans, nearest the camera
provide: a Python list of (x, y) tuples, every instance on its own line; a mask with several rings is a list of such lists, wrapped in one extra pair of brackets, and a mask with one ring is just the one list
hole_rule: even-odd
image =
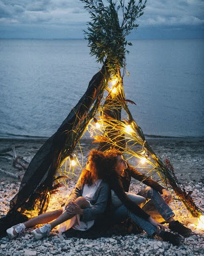
[(111, 179), (111, 186), (112, 189), (115, 191), (118, 198), (122, 201), (122, 204), (125, 205), (125, 207), (133, 212), (135, 215), (148, 219), (150, 217), (147, 212), (145, 212), (143, 209), (141, 209), (135, 202), (130, 200), (130, 198), (127, 197), (125, 190), (122, 186), (122, 181), (118, 177), (114, 177)]

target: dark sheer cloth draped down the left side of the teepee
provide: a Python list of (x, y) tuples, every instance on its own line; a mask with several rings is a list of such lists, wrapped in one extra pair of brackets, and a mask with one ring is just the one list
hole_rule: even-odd
[[(85, 118), (91, 105), (99, 96), (106, 72), (105, 64), (93, 76), (85, 94), (62, 122), (57, 132), (42, 145), (31, 160), (23, 176), (19, 192), (10, 201), (10, 210), (6, 216), (0, 218), (0, 236), (5, 234), (8, 227), (28, 219), (23, 212), (34, 207), (37, 202), (36, 199), (40, 200), (38, 214), (46, 211), (50, 199), (47, 192), (52, 187), (53, 178), (57, 171), (56, 161), (65, 147), (67, 133), (77, 128), (79, 122)], [(76, 143), (75, 140), (72, 145), (69, 145), (70, 152), (68, 153), (72, 153)]]

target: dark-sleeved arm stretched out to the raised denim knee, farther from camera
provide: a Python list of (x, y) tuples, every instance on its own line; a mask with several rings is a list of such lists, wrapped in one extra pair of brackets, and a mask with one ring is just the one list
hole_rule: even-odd
[(130, 175), (134, 179), (141, 181), (145, 185), (152, 187), (153, 189), (158, 191), (160, 194), (162, 194), (162, 189), (164, 189), (164, 187), (159, 185), (159, 183), (157, 183), (156, 181), (146, 177), (142, 173), (138, 172), (135, 168), (133, 168), (133, 166), (128, 165), (128, 168), (130, 169)]

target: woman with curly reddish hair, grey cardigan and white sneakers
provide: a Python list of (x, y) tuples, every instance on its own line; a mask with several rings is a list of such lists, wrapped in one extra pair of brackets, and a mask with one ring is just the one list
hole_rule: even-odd
[[(6, 230), (10, 239), (19, 236), (27, 227), (45, 224), (31, 232), (39, 240), (48, 236), (57, 225), (60, 232), (74, 228), (88, 230), (94, 220), (105, 211), (108, 202), (108, 183), (104, 182), (104, 171), (101, 151), (90, 151), (86, 168), (82, 171), (75, 189), (68, 197), (65, 206), (52, 212), (45, 212), (24, 223), (17, 224)], [(69, 221), (68, 221), (69, 220)], [(49, 223), (48, 223), (49, 222)], [(61, 225), (60, 225), (61, 224)]]

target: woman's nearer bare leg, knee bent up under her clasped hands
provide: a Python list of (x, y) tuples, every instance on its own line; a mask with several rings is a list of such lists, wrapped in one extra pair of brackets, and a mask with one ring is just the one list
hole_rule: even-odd
[[(79, 197), (77, 198), (74, 203), (78, 204), (82, 209), (90, 207), (90, 204), (86, 201), (85, 198)], [(74, 217), (75, 214), (68, 213), (67, 211), (63, 212), (56, 220), (52, 221), (50, 223), (51, 230), (56, 227), (57, 225), (61, 224), (64, 221), (67, 221), (68, 219)]]

